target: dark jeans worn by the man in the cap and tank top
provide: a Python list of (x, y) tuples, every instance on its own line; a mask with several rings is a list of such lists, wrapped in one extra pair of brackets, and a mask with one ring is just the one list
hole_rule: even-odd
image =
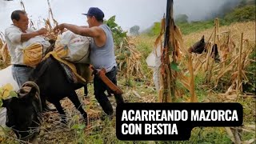
[[(106, 77), (110, 79), (117, 86), (117, 67), (114, 66), (110, 72), (106, 73)], [(98, 78), (97, 76), (94, 77), (94, 94), (95, 98), (98, 100), (98, 103), (102, 106), (104, 112), (108, 115), (113, 114), (113, 108), (110, 104), (109, 99), (107, 98), (105, 91), (108, 89), (106, 84), (102, 82), (102, 79)], [(111, 92), (113, 93), (113, 92)], [(114, 98), (117, 104), (123, 103), (122, 94), (114, 94)]]

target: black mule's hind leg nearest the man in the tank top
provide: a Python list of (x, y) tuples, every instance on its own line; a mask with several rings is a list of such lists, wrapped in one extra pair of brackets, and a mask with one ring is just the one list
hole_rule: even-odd
[(78, 99), (78, 95), (73, 91), (68, 98), (70, 98), (70, 101), (73, 102), (75, 108), (77, 108), (82, 114), (83, 118), (85, 118), (86, 125), (87, 125), (88, 124), (87, 113), (85, 110), (82, 109), (82, 105)]

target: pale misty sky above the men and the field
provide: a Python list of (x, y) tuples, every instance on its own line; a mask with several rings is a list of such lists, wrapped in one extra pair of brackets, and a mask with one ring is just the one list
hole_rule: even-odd
[[(240, 0), (174, 0), (174, 15), (186, 14), (189, 20), (202, 20), (218, 13), (223, 5), (237, 5)], [(48, 17), (46, 0), (23, 0), (26, 12), (33, 22)], [(123, 30), (138, 25), (146, 29), (154, 22), (160, 21), (166, 12), (166, 0), (50, 0), (54, 18), (59, 22), (87, 25), (86, 13), (89, 7), (97, 6), (108, 19), (116, 15), (116, 22)], [(13, 10), (21, 10), (20, 0), (0, 0), (0, 31), (12, 23), (10, 14)], [(31, 17), (32, 15), (32, 17)]]

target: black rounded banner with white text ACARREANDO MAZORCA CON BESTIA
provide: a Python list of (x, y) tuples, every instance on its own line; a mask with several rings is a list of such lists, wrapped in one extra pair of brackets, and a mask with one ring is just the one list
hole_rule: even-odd
[(116, 118), (120, 140), (188, 140), (196, 126), (242, 126), (242, 105), (124, 103)]

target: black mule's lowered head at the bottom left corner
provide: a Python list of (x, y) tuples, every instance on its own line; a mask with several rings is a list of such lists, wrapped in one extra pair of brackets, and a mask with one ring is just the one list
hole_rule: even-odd
[(18, 138), (28, 140), (38, 133), (39, 115), (37, 89), (32, 87), (26, 95), (3, 100), (6, 107), (6, 126), (12, 128)]

